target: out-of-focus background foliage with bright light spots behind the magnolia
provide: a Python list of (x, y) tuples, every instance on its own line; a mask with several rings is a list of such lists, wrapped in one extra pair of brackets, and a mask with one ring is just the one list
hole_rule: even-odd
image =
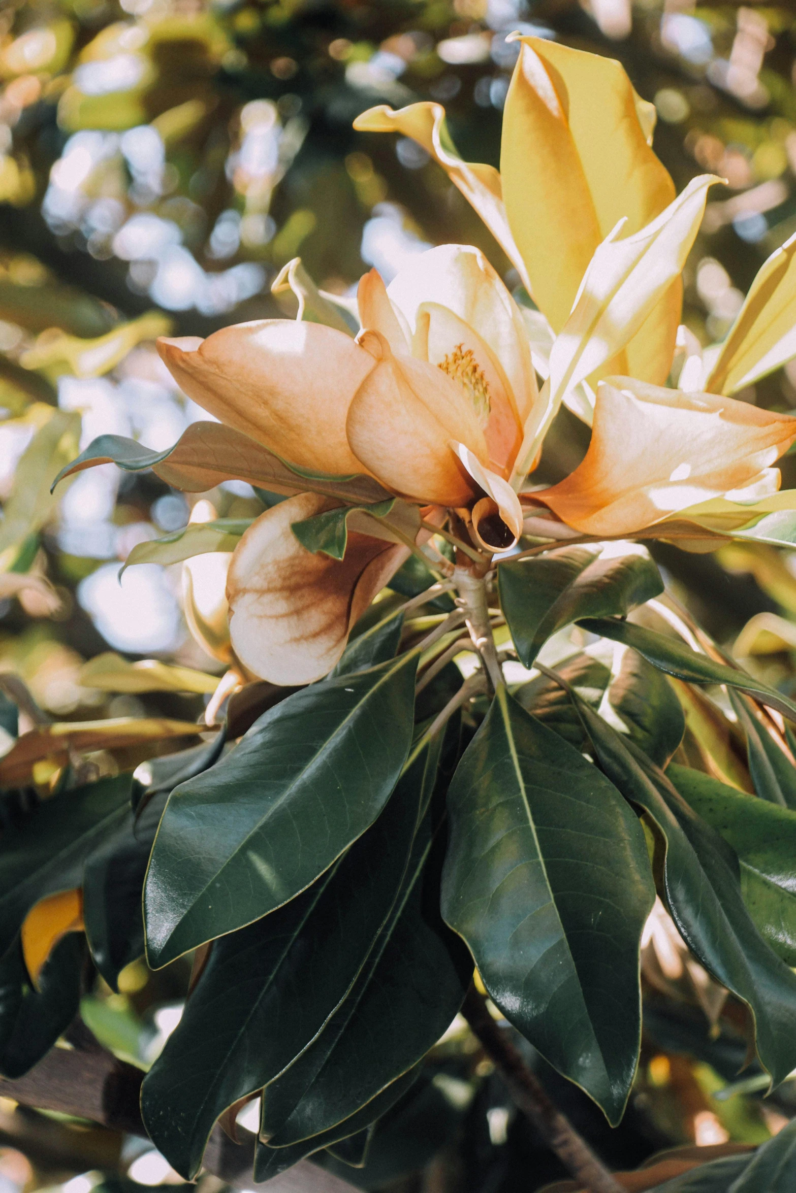
[[(270, 284), (297, 253), (319, 286), (338, 295), (370, 265), (389, 279), (413, 253), (446, 241), (481, 246), (518, 284), (422, 149), (351, 128), (376, 103), (433, 99), (445, 105), (462, 155), (498, 165), (517, 57), (505, 38), (514, 29), (619, 58), (655, 103), (654, 148), (678, 190), (703, 169), (727, 179), (711, 192), (685, 273), (684, 321), (703, 346), (721, 340), (765, 256), (796, 231), (789, 0), (641, 0), (633, 8), (629, 0), (5, 0), (0, 567), (4, 581), (20, 579), (0, 594), (0, 681), (24, 681), (21, 696), (11, 693), (23, 729), (53, 719), (196, 722), (209, 699), (197, 672), (221, 670), (187, 632), (180, 564), (135, 568), (117, 583), (137, 544), (185, 525), (185, 496), (150, 472), (119, 482), (110, 465), (78, 476), (57, 507), (48, 493), (78, 443), (132, 434), (161, 450), (200, 415), (161, 366), (154, 335), (292, 315), (292, 296), (272, 296)], [(741, 396), (796, 408), (796, 369)], [(586, 434), (562, 412), (545, 446), (545, 478), (576, 463)], [(794, 462), (783, 464), (794, 486)], [(203, 521), (264, 508), (241, 482), (203, 500), (212, 506)], [(720, 643), (736, 644), (754, 674), (796, 694), (794, 552), (738, 544), (717, 556), (662, 545), (653, 552)], [(144, 682), (130, 665), (153, 656)], [(684, 749), (696, 758), (710, 712), (686, 711)], [(105, 748), (95, 735), (84, 777), (155, 766), (152, 746), (113, 741)], [(742, 747), (724, 748), (726, 777), (742, 786)], [(60, 775), (58, 766), (33, 769), (38, 797)], [(4, 820), (11, 815), (11, 804), (0, 808)], [(642, 1061), (621, 1127), (610, 1130), (585, 1095), (531, 1057), (617, 1167), (693, 1142), (757, 1144), (796, 1109), (792, 1081), (763, 1101), (761, 1070), (738, 1076), (748, 1039), (741, 1005), (710, 989), (669, 925), (662, 913), (649, 929)], [(84, 1020), (146, 1068), (179, 1018), (189, 977), (184, 960), (156, 973), (134, 962), (118, 990), (94, 975)], [(396, 1193), (519, 1193), (562, 1175), (463, 1026), (380, 1123), (365, 1166), (345, 1158), (328, 1154), (325, 1162), (363, 1188)], [(2, 1193), (64, 1181), (67, 1193), (179, 1181), (158, 1163), (142, 1141), (0, 1099)], [(218, 1187), (206, 1176), (200, 1185)]]

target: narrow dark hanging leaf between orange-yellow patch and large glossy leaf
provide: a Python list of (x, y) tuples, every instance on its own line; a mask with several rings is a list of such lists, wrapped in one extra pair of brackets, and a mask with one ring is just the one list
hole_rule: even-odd
[(84, 921), (94, 965), (112, 990), (121, 971), (143, 954), (141, 896), (167, 792), (147, 801), (92, 853), (84, 874)]

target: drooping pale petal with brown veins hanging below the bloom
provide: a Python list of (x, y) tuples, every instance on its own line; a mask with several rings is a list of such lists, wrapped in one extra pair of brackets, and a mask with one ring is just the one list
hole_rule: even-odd
[(303, 493), (266, 509), (233, 555), (227, 581), (235, 654), (271, 684), (311, 684), (343, 654), (348, 631), (408, 558), (395, 546), (348, 532), (344, 560), (306, 550), (291, 531), (333, 502)]

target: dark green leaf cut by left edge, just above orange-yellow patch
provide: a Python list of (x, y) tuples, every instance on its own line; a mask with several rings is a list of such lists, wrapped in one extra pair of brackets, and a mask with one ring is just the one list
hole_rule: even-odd
[(30, 908), (47, 895), (82, 885), (84, 864), (129, 809), (132, 777), (100, 779), (45, 799), (5, 829), (0, 852), (0, 956)]

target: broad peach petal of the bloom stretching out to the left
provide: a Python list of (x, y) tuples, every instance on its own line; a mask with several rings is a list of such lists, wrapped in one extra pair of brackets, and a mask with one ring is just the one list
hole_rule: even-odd
[(362, 472), (345, 421), (374, 361), (348, 335), (266, 319), (158, 347), (180, 389), (222, 422), (300, 468)]

